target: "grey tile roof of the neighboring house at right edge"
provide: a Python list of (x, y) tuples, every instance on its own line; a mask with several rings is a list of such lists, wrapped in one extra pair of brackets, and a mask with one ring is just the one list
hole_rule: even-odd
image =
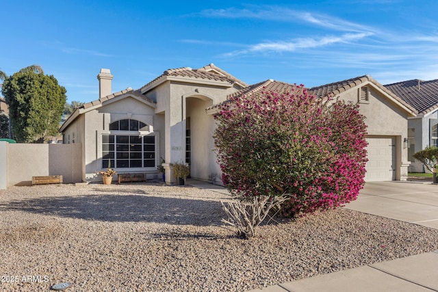
[(400, 96), (420, 114), (428, 114), (438, 108), (438, 79), (412, 79), (387, 84), (385, 87)]

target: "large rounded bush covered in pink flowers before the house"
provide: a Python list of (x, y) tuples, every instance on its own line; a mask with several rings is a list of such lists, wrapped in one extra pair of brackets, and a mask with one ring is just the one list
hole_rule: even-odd
[(287, 194), (281, 209), (292, 216), (343, 205), (363, 187), (366, 126), (357, 105), (296, 85), (235, 96), (215, 119), (222, 181), (242, 200)]

